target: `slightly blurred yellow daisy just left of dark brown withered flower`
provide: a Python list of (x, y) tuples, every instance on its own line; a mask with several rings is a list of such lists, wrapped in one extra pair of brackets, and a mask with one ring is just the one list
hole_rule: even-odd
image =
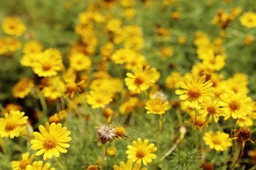
[(215, 149), (216, 151), (225, 151), (228, 150), (228, 147), (232, 146), (232, 139), (225, 132), (206, 132), (203, 140), (210, 149)]

